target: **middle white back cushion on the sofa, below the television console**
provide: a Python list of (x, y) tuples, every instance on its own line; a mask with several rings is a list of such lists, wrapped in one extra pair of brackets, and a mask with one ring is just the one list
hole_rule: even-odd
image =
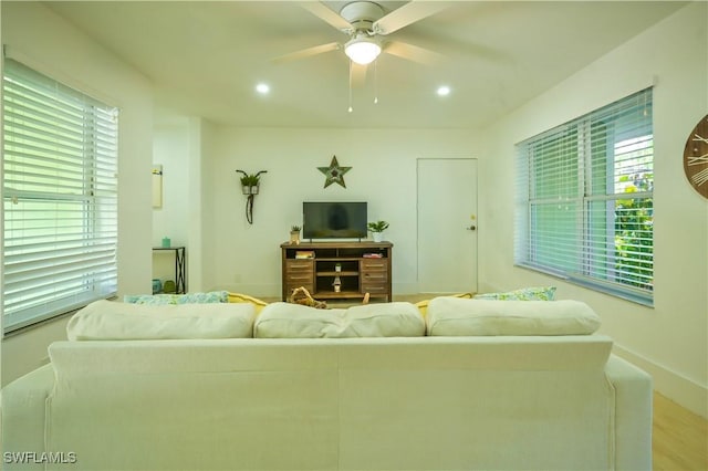
[(266, 306), (253, 326), (261, 338), (417, 337), (425, 322), (412, 303), (366, 304), (317, 310), (292, 303)]

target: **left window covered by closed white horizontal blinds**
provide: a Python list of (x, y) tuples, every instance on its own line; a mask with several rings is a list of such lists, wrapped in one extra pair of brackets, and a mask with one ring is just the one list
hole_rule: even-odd
[(10, 332), (116, 292), (117, 111), (12, 60), (3, 75)]

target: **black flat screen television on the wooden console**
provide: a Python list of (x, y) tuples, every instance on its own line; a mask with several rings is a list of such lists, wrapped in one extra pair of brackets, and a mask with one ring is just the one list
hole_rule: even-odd
[(366, 238), (366, 202), (304, 201), (303, 239)]

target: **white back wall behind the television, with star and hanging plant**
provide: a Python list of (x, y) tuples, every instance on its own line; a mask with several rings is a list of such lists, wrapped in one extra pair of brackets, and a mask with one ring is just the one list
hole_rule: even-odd
[[(214, 130), (205, 156), (205, 286), (279, 296), (280, 244), (302, 223), (306, 200), (367, 201), (368, 219), (391, 222), (395, 293), (417, 292), (416, 159), (477, 157), (472, 133), (410, 129), (231, 128)], [(333, 156), (346, 188), (324, 188)], [(261, 176), (253, 224), (246, 220), (237, 169)]]

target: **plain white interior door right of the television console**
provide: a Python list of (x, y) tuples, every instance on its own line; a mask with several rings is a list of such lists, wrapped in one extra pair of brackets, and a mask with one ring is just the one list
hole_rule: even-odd
[(477, 291), (477, 159), (418, 159), (418, 289)]

